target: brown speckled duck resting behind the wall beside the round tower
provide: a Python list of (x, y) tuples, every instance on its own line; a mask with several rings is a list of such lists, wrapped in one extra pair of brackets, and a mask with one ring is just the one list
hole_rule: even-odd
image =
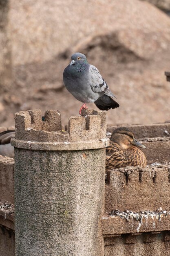
[(115, 129), (106, 148), (106, 171), (126, 166), (146, 167), (147, 161), (141, 148), (146, 148), (127, 127)]

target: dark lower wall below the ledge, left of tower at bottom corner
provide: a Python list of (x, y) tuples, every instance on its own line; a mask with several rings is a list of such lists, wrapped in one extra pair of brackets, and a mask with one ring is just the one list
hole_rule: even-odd
[(14, 231), (0, 225), (0, 256), (15, 256)]

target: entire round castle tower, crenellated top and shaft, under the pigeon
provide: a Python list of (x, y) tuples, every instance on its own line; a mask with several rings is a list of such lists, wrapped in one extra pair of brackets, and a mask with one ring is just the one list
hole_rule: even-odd
[(106, 111), (84, 115), (15, 114), (16, 256), (104, 256)]

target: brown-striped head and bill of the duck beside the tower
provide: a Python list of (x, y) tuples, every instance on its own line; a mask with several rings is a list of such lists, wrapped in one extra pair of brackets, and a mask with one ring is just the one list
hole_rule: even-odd
[(130, 148), (134, 145), (139, 148), (146, 148), (134, 137), (134, 133), (127, 127), (119, 127), (113, 131), (110, 140), (117, 143), (122, 149)]

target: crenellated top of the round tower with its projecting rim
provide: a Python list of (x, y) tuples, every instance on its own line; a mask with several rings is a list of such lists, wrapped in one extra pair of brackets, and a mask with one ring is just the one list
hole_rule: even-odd
[(41, 110), (17, 112), (15, 138), (11, 140), (11, 144), (33, 150), (81, 150), (108, 146), (106, 111), (82, 112), (82, 117), (69, 118), (68, 131), (62, 130), (61, 114), (58, 110), (47, 110), (44, 121)]

